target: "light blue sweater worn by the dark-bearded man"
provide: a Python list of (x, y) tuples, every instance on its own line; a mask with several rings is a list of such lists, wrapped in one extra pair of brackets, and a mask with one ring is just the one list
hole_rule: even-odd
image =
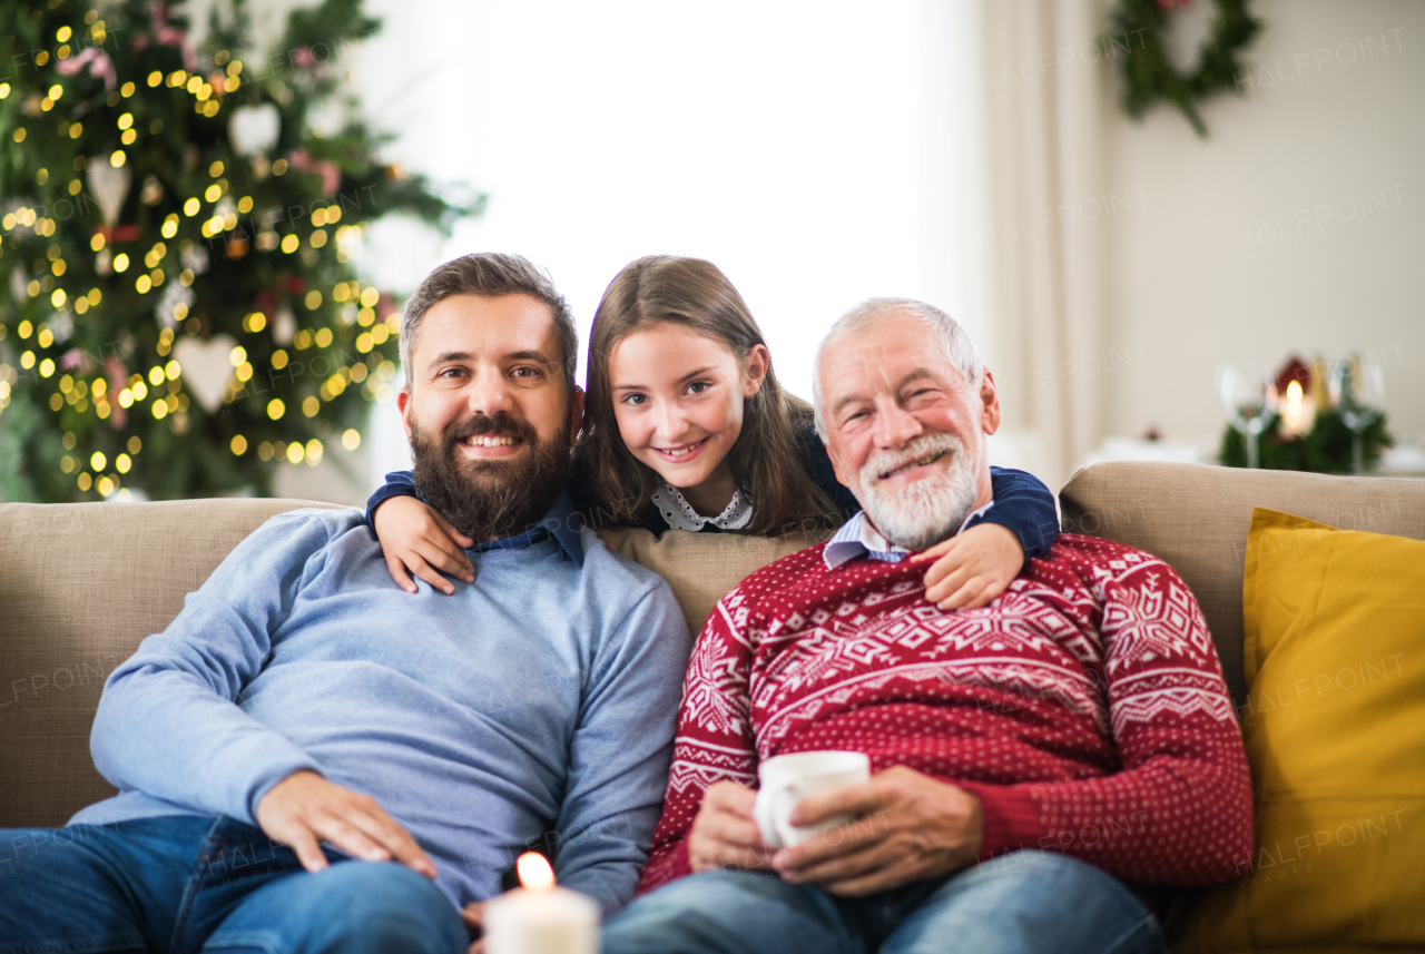
[[(473, 585), (402, 591), (358, 510), (298, 510), (239, 544), (110, 676), (94, 763), (121, 793), (71, 823), (254, 810), (298, 769), (376, 799), (456, 906), (546, 830), (561, 884), (633, 897), (691, 639), (660, 577), (561, 498), (467, 551)], [(522, 545), (523, 544), (523, 545)]]

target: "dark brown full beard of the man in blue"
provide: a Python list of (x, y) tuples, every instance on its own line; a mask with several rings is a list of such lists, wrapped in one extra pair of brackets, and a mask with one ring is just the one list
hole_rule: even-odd
[[(516, 460), (469, 460), (460, 441), (476, 434), (519, 437), (530, 453)], [(412, 414), (410, 447), (416, 457), (416, 490), (456, 530), (476, 541), (533, 527), (569, 478), (567, 423), (542, 441), (529, 421), (500, 412), (455, 421), (436, 437)]]

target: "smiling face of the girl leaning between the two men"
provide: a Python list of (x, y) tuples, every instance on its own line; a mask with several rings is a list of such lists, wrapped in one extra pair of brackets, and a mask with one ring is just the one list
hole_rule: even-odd
[(721, 340), (677, 322), (640, 327), (608, 355), (624, 444), (704, 515), (721, 513), (737, 490), (727, 454), (770, 360), (764, 345), (738, 360)]

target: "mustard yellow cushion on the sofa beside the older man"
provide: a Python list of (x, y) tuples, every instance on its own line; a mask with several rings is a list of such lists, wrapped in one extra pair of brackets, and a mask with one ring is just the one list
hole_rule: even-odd
[(1258, 507), (1243, 622), (1253, 870), (1174, 948), (1425, 945), (1425, 541)]

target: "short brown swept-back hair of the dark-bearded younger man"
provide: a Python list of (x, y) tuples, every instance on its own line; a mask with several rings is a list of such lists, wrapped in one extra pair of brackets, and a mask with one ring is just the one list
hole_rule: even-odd
[(452, 295), (479, 295), (499, 298), (502, 295), (529, 295), (544, 302), (554, 312), (554, 333), (564, 355), (564, 383), (574, 393), (574, 369), (579, 366), (579, 333), (569, 302), (554, 289), (549, 272), (522, 255), (504, 252), (479, 252), (450, 259), (437, 265), (420, 282), (416, 293), (406, 299), (400, 316), (400, 363), (406, 369), (406, 382), (412, 380), (410, 356), (416, 350), (416, 336), (420, 333), (420, 319), (430, 306)]

